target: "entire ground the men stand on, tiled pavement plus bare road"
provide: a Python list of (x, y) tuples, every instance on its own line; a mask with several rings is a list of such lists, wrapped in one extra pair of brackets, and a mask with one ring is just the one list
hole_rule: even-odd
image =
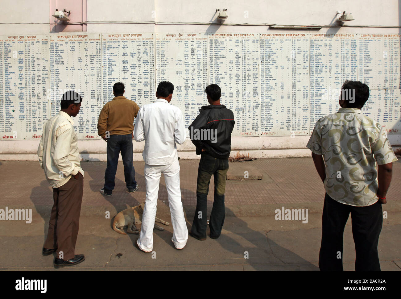
[[(1, 161), (0, 209), (32, 209), (32, 223), (0, 221), (0, 270), (55, 270), (53, 256), (42, 256), (47, 232), (52, 191), (38, 162)], [(230, 163), (234, 168), (235, 163)], [(183, 250), (171, 242), (172, 226), (154, 231), (154, 252), (146, 254), (134, 244), (138, 235), (117, 234), (111, 229), (117, 212), (145, 199), (143, 162), (134, 162), (140, 188), (125, 191), (124, 171), (119, 163), (113, 196), (99, 193), (105, 162), (82, 162), (85, 187), (76, 253), (86, 260), (57, 271), (77, 270), (205, 270), (205, 271), (318, 271), (324, 188), (310, 158), (263, 159), (250, 163), (263, 173), (257, 181), (227, 181), (226, 219), (220, 238), (198, 241), (189, 237)], [(181, 190), (188, 228), (196, 205), (198, 161), (181, 160)], [(379, 257), (384, 271), (401, 270), (401, 175), (400, 161), (393, 165), (393, 181), (383, 205), (387, 219), (379, 240)], [(209, 210), (213, 180), (209, 188)], [(275, 220), (275, 210), (308, 209), (308, 222)], [(111, 217), (105, 217), (109, 212)], [(158, 200), (159, 218), (171, 222), (164, 180)], [(354, 270), (354, 243), (350, 220), (344, 232), (344, 270)]]

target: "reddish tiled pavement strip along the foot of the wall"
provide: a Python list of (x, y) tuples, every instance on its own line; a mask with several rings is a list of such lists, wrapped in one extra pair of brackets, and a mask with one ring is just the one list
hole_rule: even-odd
[[(180, 160), (180, 187), (184, 206), (196, 205), (197, 160)], [(299, 204), (323, 203), (324, 187), (314, 168), (311, 158), (258, 159), (248, 162), (230, 162), (250, 165), (263, 175), (262, 180), (226, 181), (225, 203), (233, 206), (259, 205), (269, 203)], [(136, 181), (140, 186), (135, 193), (126, 192), (124, 167), (118, 163), (113, 196), (99, 193), (104, 184), (106, 162), (81, 162), (85, 171), (83, 212), (97, 207), (113, 207), (117, 211), (126, 205), (134, 206), (145, 200), (144, 162), (134, 161)], [(401, 159), (393, 163), (393, 181), (387, 198), (397, 202), (401, 211), (400, 191)], [(0, 198), (0, 208), (5, 206), (34, 206), (40, 211), (42, 206), (53, 204), (52, 189), (45, 179), (43, 169), (35, 161), (0, 161), (0, 188), (5, 196)], [(251, 173), (250, 173), (251, 174)], [(214, 181), (209, 186), (208, 201), (213, 202)], [(168, 207), (164, 177), (160, 179), (158, 206)], [(41, 211), (40, 211), (41, 212)], [(88, 212), (88, 213), (89, 213)], [(245, 216), (245, 215), (243, 215)]]

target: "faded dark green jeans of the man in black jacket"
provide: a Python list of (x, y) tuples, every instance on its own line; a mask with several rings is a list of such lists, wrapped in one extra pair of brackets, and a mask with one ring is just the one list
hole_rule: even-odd
[(221, 234), (225, 218), (224, 192), (228, 168), (228, 159), (217, 159), (202, 153), (196, 183), (196, 211), (191, 229), (191, 233), (198, 238), (206, 238), (207, 194), (212, 175), (215, 179), (215, 194), (209, 219), (210, 236), (218, 238)]

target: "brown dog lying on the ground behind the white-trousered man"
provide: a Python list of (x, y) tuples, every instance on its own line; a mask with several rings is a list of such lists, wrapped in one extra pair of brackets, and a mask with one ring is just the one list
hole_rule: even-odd
[[(139, 234), (140, 230), (136, 228), (135, 224), (142, 223), (142, 214), (144, 214), (145, 203), (141, 203), (140, 205), (136, 205), (135, 207), (129, 207), (121, 212), (119, 212), (113, 222), (113, 230), (118, 232), (119, 234), (126, 235), (126, 233), (122, 230), (124, 226), (127, 226), (127, 232), (130, 234)], [(155, 218), (155, 222), (162, 223), (164, 225), (170, 225), (170, 223), (163, 221), (159, 218)], [(158, 226), (156, 223), (154, 224), (154, 228), (158, 230), (164, 230), (164, 228)]]

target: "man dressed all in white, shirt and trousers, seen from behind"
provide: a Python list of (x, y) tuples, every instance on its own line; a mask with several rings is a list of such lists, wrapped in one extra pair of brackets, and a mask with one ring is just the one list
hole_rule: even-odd
[(180, 164), (177, 145), (185, 141), (184, 118), (179, 108), (170, 105), (174, 85), (163, 81), (157, 87), (156, 102), (142, 106), (138, 112), (134, 128), (136, 141), (145, 140), (142, 157), (145, 161), (146, 201), (142, 216), (142, 227), (138, 248), (144, 252), (153, 250), (153, 227), (160, 176), (168, 193), (168, 205), (173, 226), (172, 242), (175, 248), (182, 249), (188, 240), (188, 229), (184, 218), (180, 189)]

